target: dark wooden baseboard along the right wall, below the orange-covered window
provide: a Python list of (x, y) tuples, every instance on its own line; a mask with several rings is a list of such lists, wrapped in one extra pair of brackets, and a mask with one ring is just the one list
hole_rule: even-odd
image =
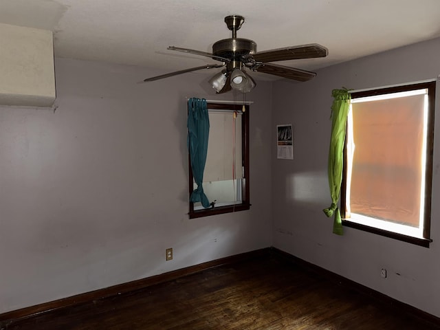
[(278, 250), (277, 248), (271, 248), (271, 250), (274, 255), (288, 259), (290, 262), (295, 263), (296, 265), (302, 268), (308, 269), (311, 272), (318, 274), (318, 276), (321, 276), (322, 278), (327, 278), (329, 281), (332, 281), (337, 285), (341, 285), (346, 289), (350, 289), (355, 292), (359, 292), (360, 294), (369, 296), (387, 307), (395, 308), (399, 311), (403, 311), (407, 314), (410, 314), (415, 318), (418, 318), (419, 320), (426, 322), (428, 325), (433, 325), (436, 327), (440, 325), (440, 318), (432, 314), (429, 314), (426, 311), (422, 311), (421, 309), (417, 309), (416, 307), (413, 307), (406, 303), (402, 303), (401, 301), (396, 300), (395, 298), (386, 296), (385, 294), (382, 294), (374, 289), (366, 287), (355, 281), (351, 281), (348, 278), (345, 278), (344, 276), (340, 276), (336, 273), (330, 272), (329, 270), (325, 270), (322, 267), (309, 263), (308, 261), (300, 259), (297, 256), (293, 256), (292, 254), (289, 254), (282, 250)]

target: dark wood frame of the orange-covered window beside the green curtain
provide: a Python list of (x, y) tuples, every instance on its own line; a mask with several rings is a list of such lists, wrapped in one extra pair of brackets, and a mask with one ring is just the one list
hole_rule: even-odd
[[(423, 238), (400, 234), (388, 230), (383, 230), (369, 225), (355, 223), (346, 219), (346, 190), (347, 190), (347, 138), (344, 142), (344, 159), (342, 169), (342, 189), (341, 189), (341, 217), (342, 225), (364, 230), (373, 234), (379, 234), (391, 239), (405, 241), (415, 245), (429, 248), (432, 239), (430, 239), (430, 220), (431, 220), (431, 203), (432, 203), (432, 164), (434, 153), (434, 115), (435, 115), (435, 91), (436, 81), (427, 81), (422, 83), (412, 83), (408, 85), (398, 85), (393, 87), (383, 87), (351, 93), (351, 98), (363, 98), (366, 96), (379, 96), (384, 94), (393, 94), (401, 91), (412, 91), (416, 89), (428, 89), (428, 122), (426, 131), (426, 175), (425, 175), (425, 199), (423, 201), (424, 217), (423, 217)], [(346, 129), (347, 133), (347, 129)]]

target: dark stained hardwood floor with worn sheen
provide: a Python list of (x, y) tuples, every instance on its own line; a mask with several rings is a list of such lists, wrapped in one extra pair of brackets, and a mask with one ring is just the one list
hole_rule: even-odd
[[(0, 327), (1, 328), (1, 327)], [(440, 329), (275, 254), (2, 329)]]

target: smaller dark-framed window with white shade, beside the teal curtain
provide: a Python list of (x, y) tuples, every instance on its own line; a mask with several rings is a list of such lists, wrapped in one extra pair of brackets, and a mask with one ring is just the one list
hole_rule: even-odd
[[(210, 208), (190, 202), (190, 219), (249, 210), (249, 105), (208, 102), (210, 133), (203, 190)], [(189, 160), (189, 192), (197, 188)]]

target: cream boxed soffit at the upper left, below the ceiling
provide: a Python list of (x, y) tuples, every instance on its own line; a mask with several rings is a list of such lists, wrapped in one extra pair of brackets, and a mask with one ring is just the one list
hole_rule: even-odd
[(0, 23), (0, 104), (50, 107), (55, 97), (52, 31)]

